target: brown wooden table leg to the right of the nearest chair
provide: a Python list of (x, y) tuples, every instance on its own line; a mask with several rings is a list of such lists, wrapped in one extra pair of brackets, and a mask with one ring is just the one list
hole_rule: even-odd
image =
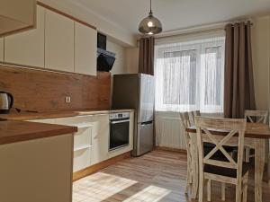
[(255, 202), (263, 202), (263, 175), (265, 169), (266, 140), (255, 140)]

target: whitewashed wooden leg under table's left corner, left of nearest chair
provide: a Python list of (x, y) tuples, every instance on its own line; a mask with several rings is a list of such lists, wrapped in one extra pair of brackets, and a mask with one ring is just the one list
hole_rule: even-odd
[(193, 168), (193, 186), (192, 186), (192, 198), (197, 198), (198, 187), (199, 187), (199, 158), (197, 148), (197, 137), (196, 134), (190, 134), (192, 139), (192, 168)]

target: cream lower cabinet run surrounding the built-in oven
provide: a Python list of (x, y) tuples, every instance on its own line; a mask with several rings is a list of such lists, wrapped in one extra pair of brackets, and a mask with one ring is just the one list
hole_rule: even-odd
[(133, 149), (134, 112), (130, 112), (130, 144), (109, 152), (109, 114), (96, 114), (58, 119), (35, 119), (33, 122), (74, 126), (73, 171), (81, 171), (91, 165), (103, 162)]

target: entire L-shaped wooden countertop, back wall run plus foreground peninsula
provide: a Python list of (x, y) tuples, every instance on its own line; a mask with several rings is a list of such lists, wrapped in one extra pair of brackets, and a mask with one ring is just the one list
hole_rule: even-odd
[[(75, 133), (77, 127), (67, 127), (55, 124), (28, 122), (31, 119), (56, 119), (116, 112), (130, 112), (133, 110), (72, 110), (51, 112), (22, 112), (0, 115), (0, 145), (21, 142), (31, 139), (59, 136)], [(1, 121), (1, 119), (6, 119)]]

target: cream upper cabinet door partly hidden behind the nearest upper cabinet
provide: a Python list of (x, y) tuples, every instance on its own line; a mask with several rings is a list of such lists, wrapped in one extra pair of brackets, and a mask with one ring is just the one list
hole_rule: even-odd
[(4, 61), (25, 66), (44, 67), (44, 15), (37, 8), (37, 28), (4, 38)]

